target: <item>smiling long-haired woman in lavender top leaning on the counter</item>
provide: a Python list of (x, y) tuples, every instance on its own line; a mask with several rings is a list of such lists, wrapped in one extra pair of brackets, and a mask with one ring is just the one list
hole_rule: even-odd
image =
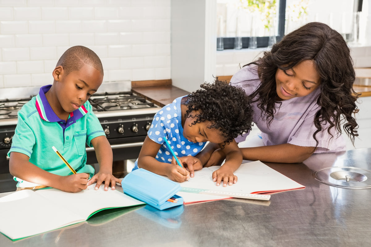
[[(337, 31), (313, 22), (287, 34), (231, 79), (252, 98), (253, 122), (262, 131), (260, 145), (240, 147), (244, 160), (299, 163), (313, 153), (343, 151), (343, 123), (354, 144), (354, 80), (349, 48)], [(208, 150), (206, 166), (220, 164), (219, 148)]]

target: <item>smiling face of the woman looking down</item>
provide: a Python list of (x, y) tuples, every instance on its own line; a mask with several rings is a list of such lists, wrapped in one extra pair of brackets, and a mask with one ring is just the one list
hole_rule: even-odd
[(303, 97), (312, 93), (321, 84), (312, 60), (304, 60), (292, 69), (276, 72), (276, 90), (278, 100)]

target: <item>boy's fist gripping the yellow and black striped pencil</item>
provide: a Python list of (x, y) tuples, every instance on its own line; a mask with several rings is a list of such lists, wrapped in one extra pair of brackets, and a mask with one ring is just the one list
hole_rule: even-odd
[(60, 187), (58, 189), (66, 192), (79, 192), (87, 187), (89, 174), (76, 173), (69, 176), (60, 176)]

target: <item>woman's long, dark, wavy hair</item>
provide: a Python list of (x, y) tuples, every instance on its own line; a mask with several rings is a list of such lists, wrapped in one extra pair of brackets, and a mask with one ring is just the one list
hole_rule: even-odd
[[(303, 60), (312, 60), (321, 81), (321, 93), (317, 103), (321, 107), (315, 115), (314, 125), (317, 128), (313, 138), (322, 130), (324, 124), (329, 123), (327, 132), (335, 127), (339, 133), (341, 123), (345, 132), (354, 144), (358, 136), (358, 124), (352, 117), (357, 113), (359, 94), (353, 90), (355, 71), (350, 50), (344, 38), (337, 31), (324, 23), (312, 22), (292, 31), (283, 39), (274, 44), (270, 51), (265, 51), (263, 57), (253, 63), (258, 66), (260, 87), (251, 95), (257, 96), (258, 107), (266, 113), (267, 123), (270, 124), (276, 112), (276, 71), (288, 70)], [(249, 64), (247, 64), (249, 65)]]

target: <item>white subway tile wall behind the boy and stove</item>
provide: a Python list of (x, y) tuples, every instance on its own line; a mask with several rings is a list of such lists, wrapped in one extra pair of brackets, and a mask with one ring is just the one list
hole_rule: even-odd
[(0, 0), (0, 89), (52, 83), (71, 46), (101, 58), (104, 82), (171, 78), (171, 0)]

